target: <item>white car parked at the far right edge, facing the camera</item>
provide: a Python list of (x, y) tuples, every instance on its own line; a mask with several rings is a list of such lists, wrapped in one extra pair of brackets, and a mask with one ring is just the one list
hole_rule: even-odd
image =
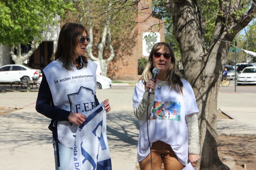
[(256, 66), (244, 68), (237, 76), (237, 86), (242, 84), (256, 84)]

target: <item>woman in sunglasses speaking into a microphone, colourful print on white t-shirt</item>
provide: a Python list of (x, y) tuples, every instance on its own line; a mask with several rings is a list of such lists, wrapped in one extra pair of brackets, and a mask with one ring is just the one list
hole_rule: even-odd
[[(154, 68), (160, 70), (155, 81), (151, 78)], [(142, 121), (138, 139), (141, 170), (151, 169), (151, 154), (154, 170), (161, 169), (162, 161), (165, 170), (181, 170), (189, 162), (196, 166), (200, 159), (199, 110), (193, 89), (176, 68), (174, 51), (169, 44), (156, 43), (152, 48), (135, 86), (133, 107), (135, 116)], [(152, 110), (157, 113), (163, 110), (165, 116), (152, 119), (148, 117)]]

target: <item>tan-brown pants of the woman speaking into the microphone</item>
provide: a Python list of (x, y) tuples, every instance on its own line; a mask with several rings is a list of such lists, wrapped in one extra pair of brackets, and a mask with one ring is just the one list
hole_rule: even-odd
[[(153, 142), (151, 147), (153, 170), (161, 170), (164, 163), (165, 170), (182, 170), (182, 165), (169, 144), (160, 140)], [(139, 162), (141, 170), (151, 170), (150, 154)]]

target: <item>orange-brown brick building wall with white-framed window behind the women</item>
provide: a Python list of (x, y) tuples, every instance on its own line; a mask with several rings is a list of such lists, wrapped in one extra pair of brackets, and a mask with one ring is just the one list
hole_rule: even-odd
[[(147, 6), (144, 1), (140, 1), (138, 4), (138, 8), (143, 8)], [(140, 75), (138, 75), (138, 59), (140, 57), (149, 56), (150, 50), (152, 46), (160, 41), (164, 41), (164, 29), (162, 27), (160, 32), (157, 33), (157, 37), (151, 35), (151, 38), (148, 38), (147, 41), (144, 36), (148, 35), (147, 31), (152, 25), (158, 24), (162, 22), (159, 19), (148, 16), (152, 13), (152, 8), (147, 10), (142, 10), (140, 14), (138, 14), (136, 21), (138, 24), (132, 30), (131, 36), (134, 41), (127, 41), (126, 45), (128, 50), (124, 54), (122, 50), (116, 51), (116, 55), (114, 60), (110, 61), (108, 65), (107, 76), (112, 80), (138, 80)], [(147, 19), (147, 20), (146, 20)], [(154, 27), (152, 31), (158, 32)], [(129, 43), (132, 43), (129, 44)]]

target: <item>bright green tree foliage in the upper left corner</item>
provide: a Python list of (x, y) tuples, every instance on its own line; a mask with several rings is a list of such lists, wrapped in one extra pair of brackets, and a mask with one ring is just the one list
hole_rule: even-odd
[(66, 0), (1, 0), (0, 43), (9, 46), (27, 44), (56, 24), (57, 15), (64, 17), (72, 3)]

